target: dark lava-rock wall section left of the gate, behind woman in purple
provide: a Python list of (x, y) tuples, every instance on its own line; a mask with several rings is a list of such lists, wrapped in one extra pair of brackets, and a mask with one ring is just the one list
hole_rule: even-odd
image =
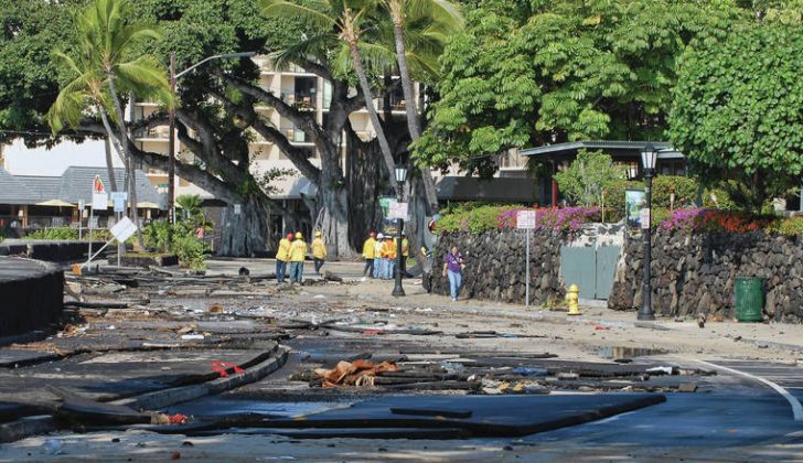
[[(533, 230), (529, 236), (531, 304), (564, 298), (560, 246), (568, 237), (545, 230)], [(452, 246), (458, 246), (465, 260), (461, 298), (465, 295), (472, 299), (524, 303), (524, 230), (486, 232), (481, 235), (459, 232), (443, 235), (438, 243), (432, 269), (433, 291), (439, 294), (449, 293), (449, 280), (441, 272), (446, 252)]]

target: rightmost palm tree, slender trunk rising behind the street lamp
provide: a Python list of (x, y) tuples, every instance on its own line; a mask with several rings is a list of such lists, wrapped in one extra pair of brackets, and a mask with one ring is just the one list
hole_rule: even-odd
[[(410, 66), (407, 63), (407, 46), (405, 44), (405, 28), (409, 21), (429, 21), (425, 36), (433, 39), (436, 54), (442, 52), (448, 34), (453, 33), (462, 25), (460, 11), (449, 0), (384, 0), (385, 8), (393, 20), (393, 35), (396, 47), (396, 61), (398, 62), (402, 89), (405, 96), (405, 109), (407, 111), (407, 127), (413, 141), (421, 137), (421, 127), (418, 123), (418, 108), (416, 94), (413, 88)], [(435, 181), (429, 168), (421, 169), (424, 191), (429, 204), (430, 213), (438, 212), (438, 197), (435, 192)]]

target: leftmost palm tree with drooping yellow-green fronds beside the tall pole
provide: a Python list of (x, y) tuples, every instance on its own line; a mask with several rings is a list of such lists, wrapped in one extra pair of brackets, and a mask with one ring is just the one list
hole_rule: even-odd
[[(137, 53), (146, 42), (158, 40), (161, 35), (148, 24), (127, 22), (127, 18), (131, 17), (127, 0), (95, 0), (75, 15), (78, 57), (73, 60), (56, 52), (54, 58), (65, 72), (76, 77), (61, 89), (47, 118), (53, 130), (58, 131), (65, 125), (76, 127), (87, 108), (100, 116), (107, 136), (115, 142), (126, 163), (131, 215), (138, 223), (136, 169), (128, 146), (128, 128), (119, 93), (130, 93), (138, 98), (161, 101), (168, 106), (174, 104), (174, 97), (159, 61), (151, 55)], [(117, 123), (117, 136), (111, 130), (109, 119)], [(141, 232), (138, 238), (141, 246)]]

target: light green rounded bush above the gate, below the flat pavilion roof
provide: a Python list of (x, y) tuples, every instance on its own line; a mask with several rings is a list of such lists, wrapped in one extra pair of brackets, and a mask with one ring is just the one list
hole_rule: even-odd
[(624, 168), (601, 151), (580, 150), (569, 168), (555, 174), (558, 187), (572, 203), (583, 206), (602, 204), (603, 192), (624, 176)]

